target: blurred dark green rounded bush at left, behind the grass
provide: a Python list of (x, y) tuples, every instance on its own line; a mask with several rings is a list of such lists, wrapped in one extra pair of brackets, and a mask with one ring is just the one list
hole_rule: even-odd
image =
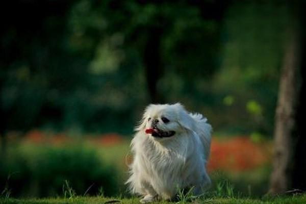
[(20, 145), (9, 151), (0, 160), (0, 186), (11, 196), (63, 196), (67, 182), (77, 195), (97, 195), (101, 189), (107, 196), (119, 193), (116, 169), (93, 148)]

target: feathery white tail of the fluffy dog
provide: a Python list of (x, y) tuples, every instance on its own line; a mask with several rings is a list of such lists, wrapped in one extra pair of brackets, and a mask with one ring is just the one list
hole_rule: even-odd
[(205, 150), (205, 159), (207, 161), (210, 154), (212, 126), (207, 123), (207, 118), (202, 114), (189, 113), (189, 115), (195, 120), (196, 132), (200, 136), (200, 140)]

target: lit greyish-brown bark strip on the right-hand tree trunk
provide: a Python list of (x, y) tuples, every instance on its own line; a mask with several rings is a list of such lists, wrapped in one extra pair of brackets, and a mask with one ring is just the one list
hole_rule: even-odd
[(294, 135), (296, 130), (299, 67), (296, 37), (289, 42), (279, 83), (275, 113), (273, 171), (269, 192), (284, 193), (291, 186)]

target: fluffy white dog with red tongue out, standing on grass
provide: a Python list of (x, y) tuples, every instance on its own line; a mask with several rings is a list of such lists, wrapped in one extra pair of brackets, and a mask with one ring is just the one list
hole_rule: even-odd
[(178, 189), (198, 195), (211, 180), (206, 171), (212, 127), (201, 114), (181, 104), (149, 105), (136, 127), (131, 146), (134, 161), (127, 180), (141, 202), (171, 199)]

